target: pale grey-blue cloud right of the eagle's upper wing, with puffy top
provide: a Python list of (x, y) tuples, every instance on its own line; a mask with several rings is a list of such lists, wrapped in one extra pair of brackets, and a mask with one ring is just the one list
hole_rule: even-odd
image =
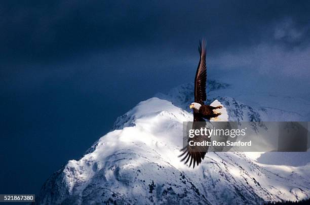
[[(243, 49), (214, 56), (210, 64), (221, 68), (246, 68), (265, 75), (297, 79), (310, 77), (310, 47), (306, 33), (309, 26), (297, 28), (292, 19), (276, 24), (261, 42)], [(296, 42), (302, 41), (301, 44)]]

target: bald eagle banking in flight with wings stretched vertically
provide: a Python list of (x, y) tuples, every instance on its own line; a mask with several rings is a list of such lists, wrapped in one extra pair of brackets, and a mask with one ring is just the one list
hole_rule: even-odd
[[(202, 123), (198, 122), (205, 122), (205, 119), (210, 120), (213, 117), (219, 116), (220, 112), (214, 112), (216, 109), (223, 108), (221, 105), (213, 107), (211, 105), (205, 105), (204, 101), (207, 100), (206, 94), (206, 82), (207, 82), (207, 66), (206, 66), (206, 49), (205, 49), (205, 41), (203, 40), (202, 43), (199, 43), (199, 53), (200, 53), (200, 60), (196, 71), (195, 76), (195, 89), (194, 89), (194, 96), (195, 102), (192, 102), (189, 105), (190, 109), (193, 109), (193, 124), (192, 129), (200, 129), (202, 127)], [(189, 139), (195, 142), (202, 142), (202, 141), (210, 141), (210, 138), (207, 136), (195, 135), (195, 137)], [(188, 141), (189, 141), (188, 140)], [(184, 161), (185, 164), (190, 159), (189, 167), (193, 165), (197, 166), (201, 163), (202, 159), (205, 158), (206, 152), (208, 151), (208, 147), (200, 147), (200, 146), (185, 146), (181, 149), (183, 152), (179, 157), (183, 158), (181, 161)], [(192, 163), (193, 162), (193, 163)]]

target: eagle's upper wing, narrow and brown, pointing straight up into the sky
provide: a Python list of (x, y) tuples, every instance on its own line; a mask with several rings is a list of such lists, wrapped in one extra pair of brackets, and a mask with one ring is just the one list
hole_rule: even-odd
[(204, 101), (207, 100), (206, 94), (206, 82), (207, 82), (207, 66), (206, 66), (206, 48), (205, 41), (199, 43), (199, 53), (200, 60), (196, 71), (195, 76), (195, 102), (204, 104)]

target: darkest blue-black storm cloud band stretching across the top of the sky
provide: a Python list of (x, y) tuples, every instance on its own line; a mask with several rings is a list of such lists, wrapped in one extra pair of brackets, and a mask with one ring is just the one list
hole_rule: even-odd
[[(54, 63), (111, 48), (152, 45), (182, 44), (190, 53), (202, 37), (215, 53), (251, 44), (270, 20), (309, 16), (308, 4), (292, 2), (282, 2), (281, 7), (270, 1), (11, 2), (0, 5), (0, 60), (11, 64)], [(279, 40), (305, 36), (295, 27), (290, 22), (279, 25), (275, 36)]]

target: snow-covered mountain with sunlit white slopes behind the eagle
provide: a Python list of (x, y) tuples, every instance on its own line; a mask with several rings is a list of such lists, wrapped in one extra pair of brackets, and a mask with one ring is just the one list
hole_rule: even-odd
[[(303, 119), (293, 110), (251, 106), (227, 97), (230, 86), (215, 80), (207, 88), (209, 103), (221, 102), (230, 121)], [(140, 102), (81, 159), (55, 172), (36, 203), (261, 204), (310, 197), (308, 152), (294, 153), (300, 161), (294, 166), (279, 165), (277, 158), (256, 152), (207, 153), (195, 169), (180, 162), (182, 122), (192, 120), (192, 96), (193, 85), (186, 84)]]

